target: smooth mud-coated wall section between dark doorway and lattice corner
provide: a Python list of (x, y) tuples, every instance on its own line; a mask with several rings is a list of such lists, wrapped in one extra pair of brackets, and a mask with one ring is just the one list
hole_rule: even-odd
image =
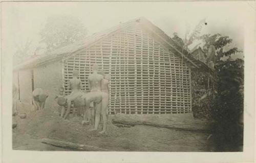
[(42, 88), (49, 95), (46, 108), (56, 108), (54, 98), (58, 95), (58, 88), (62, 86), (61, 65), (61, 61), (55, 61), (34, 68), (34, 88)]

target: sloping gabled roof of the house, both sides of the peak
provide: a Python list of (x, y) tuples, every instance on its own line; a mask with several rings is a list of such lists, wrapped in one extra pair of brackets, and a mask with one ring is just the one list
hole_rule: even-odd
[(77, 41), (67, 46), (63, 46), (62, 48), (46, 53), (45, 55), (39, 55), (36, 57), (29, 58), (27, 59), (27, 61), (15, 66), (13, 70), (17, 71), (19, 69), (33, 68), (35, 66), (39, 66), (50, 61), (59, 60), (63, 57), (71, 57), (72, 53), (80, 49), (86, 48), (96, 43), (98, 40), (108, 37), (109, 35), (115, 32), (118, 32), (123, 28), (127, 28), (136, 24), (141, 25), (141, 27), (148, 30), (155, 37), (158, 37), (162, 42), (164, 42), (164, 45), (169, 50), (172, 51), (172, 53), (174, 53), (176, 56), (180, 58), (183, 58), (192, 67), (203, 68), (207, 71), (212, 71), (206, 64), (195, 59), (191, 54), (189, 54), (186, 50), (184, 50), (176, 41), (174, 41), (172, 38), (167, 36), (161, 29), (159, 29), (158, 27), (156, 27), (150, 21), (148, 21), (146, 18), (143, 18), (143, 17), (136, 20), (127, 21), (122, 24), (119, 24), (118, 26), (112, 27), (108, 30), (95, 33), (91, 36), (84, 38), (81, 41)]

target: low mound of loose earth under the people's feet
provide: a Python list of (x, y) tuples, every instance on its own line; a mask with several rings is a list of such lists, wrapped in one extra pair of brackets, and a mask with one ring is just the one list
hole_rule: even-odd
[[(50, 109), (32, 111), (27, 113), (26, 119), (15, 117), (18, 123), (17, 131), (29, 134), (34, 138), (54, 138), (73, 143), (84, 143), (99, 138), (111, 138), (120, 136), (120, 128), (109, 123), (107, 132), (99, 134), (97, 131), (89, 131), (92, 125), (82, 125), (82, 117), (70, 115), (69, 120), (58, 116), (57, 112)], [(98, 131), (102, 130), (99, 125)]]

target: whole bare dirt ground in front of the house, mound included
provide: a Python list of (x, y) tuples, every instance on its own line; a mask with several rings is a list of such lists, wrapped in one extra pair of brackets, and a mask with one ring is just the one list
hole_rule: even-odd
[[(117, 127), (108, 123), (107, 132), (99, 134), (89, 131), (91, 125), (82, 125), (81, 117), (63, 120), (56, 111), (44, 109), (27, 111), (27, 118), (13, 117), (17, 127), (13, 129), (13, 149), (37, 151), (63, 151), (63, 149), (41, 143), (41, 138), (96, 146), (111, 151), (209, 151), (208, 134), (135, 125)], [(98, 131), (101, 131), (99, 126)]]

